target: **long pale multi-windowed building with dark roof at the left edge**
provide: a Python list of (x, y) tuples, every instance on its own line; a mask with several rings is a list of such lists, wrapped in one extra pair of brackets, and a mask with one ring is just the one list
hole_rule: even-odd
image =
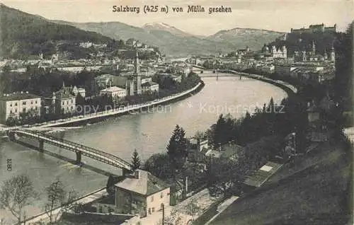
[(40, 115), (41, 100), (28, 92), (4, 94), (0, 97), (0, 122), (5, 123), (8, 117), (20, 118), (21, 113)]

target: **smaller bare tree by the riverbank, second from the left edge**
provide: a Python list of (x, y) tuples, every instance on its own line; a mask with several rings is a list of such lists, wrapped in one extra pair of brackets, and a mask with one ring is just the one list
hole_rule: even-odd
[[(76, 192), (65, 190), (64, 184), (59, 179), (51, 183), (47, 188), (45, 188), (47, 194), (47, 202), (45, 203), (45, 212), (50, 218), (50, 224), (57, 221), (58, 216), (62, 211), (66, 210), (69, 203), (73, 202), (76, 198)], [(62, 211), (57, 214), (53, 214), (53, 210), (56, 207), (62, 207)]]

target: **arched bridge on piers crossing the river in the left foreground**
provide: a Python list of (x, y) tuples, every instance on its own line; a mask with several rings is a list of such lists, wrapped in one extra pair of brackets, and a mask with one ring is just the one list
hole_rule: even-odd
[(104, 151), (100, 151), (98, 149), (93, 149), (89, 146), (84, 146), (82, 144), (78, 144), (75, 142), (70, 142), (65, 139), (61, 139), (58, 137), (53, 137), (49, 134), (44, 134), (42, 132), (29, 130), (29, 129), (13, 129), (8, 132), (8, 137), (12, 141), (15, 140), (15, 134), (18, 136), (29, 137), (32, 139), (38, 139), (38, 149), (43, 151), (43, 144), (46, 142), (47, 144), (52, 144), (54, 146), (59, 146), (62, 149), (67, 149), (68, 151), (72, 151), (76, 153), (76, 164), (81, 163), (81, 155), (87, 156), (89, 158), (93, 158), (97, 161), (101, 161), (103, 163), (107, 163), (111, 166), (115, 166), (118, 168), (122, 168), (126, 171), (132, 171), (132, 166), (127, 161), (114, 156), (112, 154), (108, 154)]

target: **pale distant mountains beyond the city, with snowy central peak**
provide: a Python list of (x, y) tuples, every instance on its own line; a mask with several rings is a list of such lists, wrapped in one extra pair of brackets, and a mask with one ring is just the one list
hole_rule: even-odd
[[(227, 30), (224, 30), (210, 37), (202, 37), (185, 33), (166, 23), (148, 23), (142, 28), (138, 28), (120, 22), (55, 22), (74, 25), (77, 28), (101, 33), (115, 39), (127, 40), (133, 37), (147, 45), (159, 47), (161, 52), (170, 57), (231, 52), (246, 46), (249, 46), (251, 50), (258, 50), (261, 49), (264, 43), (271, 42), (275, 40), (276, 37), (282, 35), (282, 33), (273, 31), (265, 32), (256, 29), (239, 29), (239, 36), (234, 35), (232, 37), (232, 35), (227, 35)], [(244, 33), (242, 33), (241, 30), (245, 30)], [(249, 32), (249, 30), (253, 30), (253, 32)]]

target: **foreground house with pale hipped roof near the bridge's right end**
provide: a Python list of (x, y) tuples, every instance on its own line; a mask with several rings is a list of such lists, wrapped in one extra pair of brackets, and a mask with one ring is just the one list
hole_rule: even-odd
[(147, 171), (137, 170), (115, 184), (118, 213), (146, 217), (170, 205), (170, 186)]

